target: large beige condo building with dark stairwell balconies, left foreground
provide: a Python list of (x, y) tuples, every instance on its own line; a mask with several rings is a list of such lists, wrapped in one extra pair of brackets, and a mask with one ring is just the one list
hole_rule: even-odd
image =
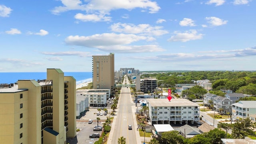
[(0, 88), (0, 99), (0, 144), (66, 144), (76, 136), (76, 80), (60, 69)]

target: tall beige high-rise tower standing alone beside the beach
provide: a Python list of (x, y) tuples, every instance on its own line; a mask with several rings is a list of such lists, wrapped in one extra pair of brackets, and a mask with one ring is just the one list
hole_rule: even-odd
[(114, 94), (114, 53), (92, 56), (92, 73), (94, 89), (110, 89)]

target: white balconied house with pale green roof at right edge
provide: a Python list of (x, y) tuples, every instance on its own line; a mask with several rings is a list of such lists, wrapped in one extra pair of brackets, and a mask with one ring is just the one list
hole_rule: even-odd
[(252, 122), (256, 122), (256, 101), (241, 100), (232, 104), (232, 110), (236, 112), (239, 118), (250, 118)]

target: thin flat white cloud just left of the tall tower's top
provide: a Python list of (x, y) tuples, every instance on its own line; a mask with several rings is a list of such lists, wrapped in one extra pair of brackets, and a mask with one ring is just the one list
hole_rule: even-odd
[[(80, 52), (80, 51), (66, 51), (66, 52), (41, 52), (44, 55), (51, 56), (80, 56), (80, 57), (91, 57), (90, 52)], [(58, 59), (58, 57), (55, 57)]]

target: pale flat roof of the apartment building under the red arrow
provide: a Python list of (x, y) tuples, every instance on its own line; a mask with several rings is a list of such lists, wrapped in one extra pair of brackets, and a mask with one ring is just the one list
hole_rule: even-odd
[(146, 100), (151, 106), (199, 106), (185, 98), (172, 98), (170, 101), (167, 98), (146, 98)]

